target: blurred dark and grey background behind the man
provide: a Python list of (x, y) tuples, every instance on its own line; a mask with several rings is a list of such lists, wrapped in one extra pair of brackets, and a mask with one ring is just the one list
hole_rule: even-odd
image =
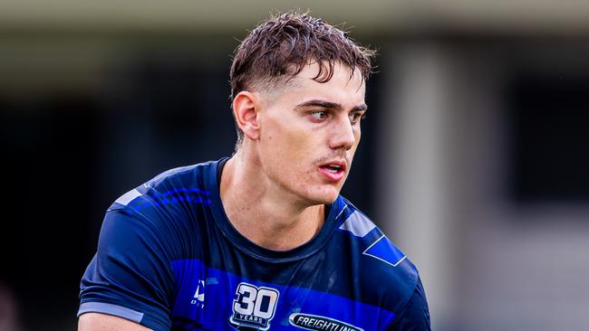
[(309, 8), (378, 48), (343, 195), (435, 330), (589, 329), (589, 2), (0, 2), (0, 331), (74, 330), (104, 211), (228, 156), (230, 54)]

